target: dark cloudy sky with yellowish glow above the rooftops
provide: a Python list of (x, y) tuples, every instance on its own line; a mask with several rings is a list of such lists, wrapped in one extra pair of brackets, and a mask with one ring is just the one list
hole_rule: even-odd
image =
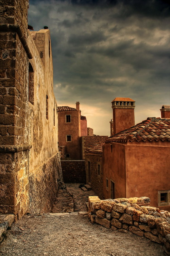
[(111, 101), (136, 101), (135, 123), (170, 104), (167, 0), (30, 0), (29, 25), (48, 26), (58, 106), (80, 101), (88, 127), (110, 135)]

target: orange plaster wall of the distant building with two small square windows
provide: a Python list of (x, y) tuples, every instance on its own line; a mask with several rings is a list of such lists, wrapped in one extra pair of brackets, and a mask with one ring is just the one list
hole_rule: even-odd
[[(71, 115), (71, 122), (66, 123), (66, 115)], [(71, 141), (66, 141), (66, 135), (71, 135)], [(74, 160), (81, 159), (80, 143), (80, 112), (65, 111), (58, 112), (58, 145), (66, 146), (66, 154)]]

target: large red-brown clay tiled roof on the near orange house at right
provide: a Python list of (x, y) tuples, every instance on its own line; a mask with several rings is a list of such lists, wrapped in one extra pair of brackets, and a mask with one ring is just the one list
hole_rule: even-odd
[(170, 141), (170, 119), (148, 117), (147, 120), (109, 137), (106, 143), (141, 140)]

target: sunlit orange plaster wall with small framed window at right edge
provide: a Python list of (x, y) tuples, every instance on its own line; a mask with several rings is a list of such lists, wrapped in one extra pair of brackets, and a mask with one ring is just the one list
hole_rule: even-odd
[(126, 145), (126, 197), (145, 191), (151, 206), (170, 211), (170, 205), (158, 206), (158, 191), (170, 189), (169, 155), (170, 147)]

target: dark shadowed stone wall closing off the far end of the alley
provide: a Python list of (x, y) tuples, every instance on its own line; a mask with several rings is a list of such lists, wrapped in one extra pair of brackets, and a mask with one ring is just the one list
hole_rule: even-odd
[(61, 161), (63, 180), (64, 182), (85, 183), (85, 161), (83, 160), (70, 160)]

